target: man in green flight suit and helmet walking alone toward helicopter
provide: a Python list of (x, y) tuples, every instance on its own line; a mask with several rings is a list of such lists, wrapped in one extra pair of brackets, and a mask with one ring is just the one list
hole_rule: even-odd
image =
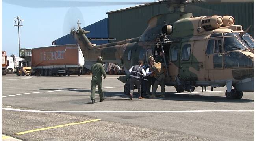
[(102, 60), (103, 60), (103, 58), (101, 56), (98, 56), (97, 63), (95, 63), (91, 66), (91, 73), (93, 75), (91, 78), (91, 103), (92, 104), (95, 103), (95, 91), (96, 91), (97, 85), (98, 85), (98, 90), (100, 93), (100, 102), (102, 102), (104, 99), (106, 99), (106, 96), (103, 95), (103, 90), (102, 90), (101, 75), (103, 75), (103, 79), (106, 78), (106, 72), (102, 65)]

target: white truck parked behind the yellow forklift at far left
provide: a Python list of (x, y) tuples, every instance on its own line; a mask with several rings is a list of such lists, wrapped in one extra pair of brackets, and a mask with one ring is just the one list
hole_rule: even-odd
[(11, 74), (16, 72), (16, 68), (19, 67), (19, 61), (23, 61), (24, 58), (15, 57), (15, 55), (11, 55), (11, 57), (7, 57), (7, 73)]

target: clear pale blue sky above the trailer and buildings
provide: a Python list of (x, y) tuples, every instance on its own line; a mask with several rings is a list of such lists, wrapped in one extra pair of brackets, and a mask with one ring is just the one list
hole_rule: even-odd
[[(98, 3), (88, 1), (72, 1), (72, 5), (68, 7), (65, 2), (61, 5), (57, 0), (2, 0), (2, 51), (6, 51), (7, 56), (11, 54), (19, 56), (18, 27), (14, 26), (14, 19), (17, 16), (24, 20), (23, 26), (19, 28), (20, 48), (32, 49), (52, 46), (52, 41), (69, 34), (71, 28), (77, 26), (78, 18), (83, 28), (107, 18), (106, 12), (140, 5), (118, 5), (118, 2), (154, 2), (154, 0), (100, 0), (117, 2), (117, 4), (108, 5), (102, 2), (98, 6)], [(91, 0), (91, 2), (95, 1)], [(13, 4), (9, 4), (10, 2)], [(54, 6), (58, 4), (59, 7)], [(64, 7), (61, 7), (63, 5)], [(77, 7), (79, 5), (83, 7)]]

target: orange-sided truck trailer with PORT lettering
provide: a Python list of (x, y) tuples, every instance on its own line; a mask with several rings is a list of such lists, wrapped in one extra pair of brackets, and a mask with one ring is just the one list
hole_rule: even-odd
[(78, 44), (34, 48), (31, 51), (31, 75), (80, 76), (85, 71), (83, 53)]

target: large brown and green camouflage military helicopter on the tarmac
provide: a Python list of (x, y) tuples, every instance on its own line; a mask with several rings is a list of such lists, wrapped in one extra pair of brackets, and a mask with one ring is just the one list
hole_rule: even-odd
[[(89, 31), (80, 28), (71, 33), (82, 49), (88, 69), (96, 56), (103, 56), (105, 62), (122, 63), (129, 74), (128, 69), (138, 60), (148, 63), (150, 56), (162, 51), (167, 66), (165, 85), (174, 86), (177, 92), (227, 86), (227, 99), (241, 99), (242, 91), (254, 91), (254, 39), (241, 25), (234, 25), (231, 16), (193, 17), (183, 11), (185, 4), (202, 1), (208, 2), (160, 1), (179, 6), (180, 11), (152, 17), (137, 38), (93, 46), (85, 35)], [(210, 0), (213, 1), (223, 0)], [(125, 83), (124, 92), (128, 94), (128, 75), (118, 79)]]

